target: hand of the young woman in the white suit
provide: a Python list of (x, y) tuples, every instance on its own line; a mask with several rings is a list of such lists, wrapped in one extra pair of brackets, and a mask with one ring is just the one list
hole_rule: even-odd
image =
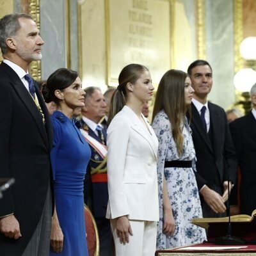
[(132, 228), (127, 216), (116, 219), (116, 234), (121, 244), (129, 243), (129, 234), (132, 236)]

